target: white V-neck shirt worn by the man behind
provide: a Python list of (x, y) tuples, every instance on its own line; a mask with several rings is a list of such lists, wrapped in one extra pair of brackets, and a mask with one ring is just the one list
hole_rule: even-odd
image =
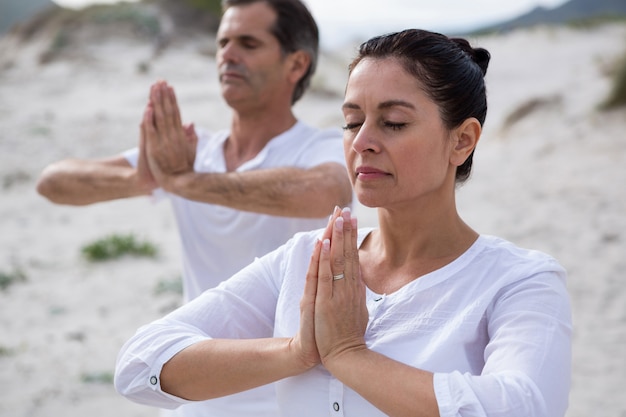
[[(203, 131), (197, 133), (194, 170), (226, 172), (224, 142), (230, 132), (225, 130), (214, 135)], [(137, 166), (138, 155), (136, 148), (124, 153), (132, 166)], [(273, 138), (255, 158), (237, 168), (237, 172), (285, 166), (311, 168), (327, 162), (345, 166), (341, 132), (337, 129), (319, 130), (299, 121)], [(187, 200), (163, 190), (155, 191), (154, 197), (168, 197), (174, 209), (182, 244), (185, 302), (234, 275), (255, 257), (284, 244), (295, 233), (324, 227), (328, 221), (327, 217), (281, 217), (240, 211)], [(189, 404), (175, 415), (230, 417), (250, 411), (254, 411), (257, 417), (276, 416), (272, 386)]]

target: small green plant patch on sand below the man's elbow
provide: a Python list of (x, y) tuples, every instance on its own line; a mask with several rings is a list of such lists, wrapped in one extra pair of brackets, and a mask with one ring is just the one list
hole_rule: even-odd
[(88, 261), (101, 262), (124, 255), (154, 258), (158, 251), (154, 244), (147, 241), (140, 242), (133, 234), (114, 234), (84, 246), (81, 252)]

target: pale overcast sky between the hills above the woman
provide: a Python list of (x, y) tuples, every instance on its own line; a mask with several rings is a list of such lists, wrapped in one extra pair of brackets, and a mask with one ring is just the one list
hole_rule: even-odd
[[(65, 7), (116, 0), (54, 0)], [(304, 0), (320, 27), (322, 43), (332, 46), (408, 27), (460, 32), (500, 22), (537, 6), (567, 0)]]

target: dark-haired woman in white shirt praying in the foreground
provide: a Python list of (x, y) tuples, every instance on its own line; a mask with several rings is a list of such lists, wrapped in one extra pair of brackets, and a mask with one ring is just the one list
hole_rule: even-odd
[(489, 53), (407, 30), (361, 45), (343, 113), (349, 210), (140, 329), (129, 398), (176, 407), (276, 382), (284, 416), (563, 416), (565, 272), (456, 210), (487, 111)]

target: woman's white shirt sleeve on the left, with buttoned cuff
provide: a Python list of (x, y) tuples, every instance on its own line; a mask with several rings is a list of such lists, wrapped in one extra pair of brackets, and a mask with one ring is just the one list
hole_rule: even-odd
[(212, 338), (272, 337), (279, 279), (275, 271), (283, 250), (255, 260), (218, 287), (141, 327), (118, 355), (116, 390), (140, 404), (176, 408), (190, 401), (163, 392), (160, 374), (178, 352)]

